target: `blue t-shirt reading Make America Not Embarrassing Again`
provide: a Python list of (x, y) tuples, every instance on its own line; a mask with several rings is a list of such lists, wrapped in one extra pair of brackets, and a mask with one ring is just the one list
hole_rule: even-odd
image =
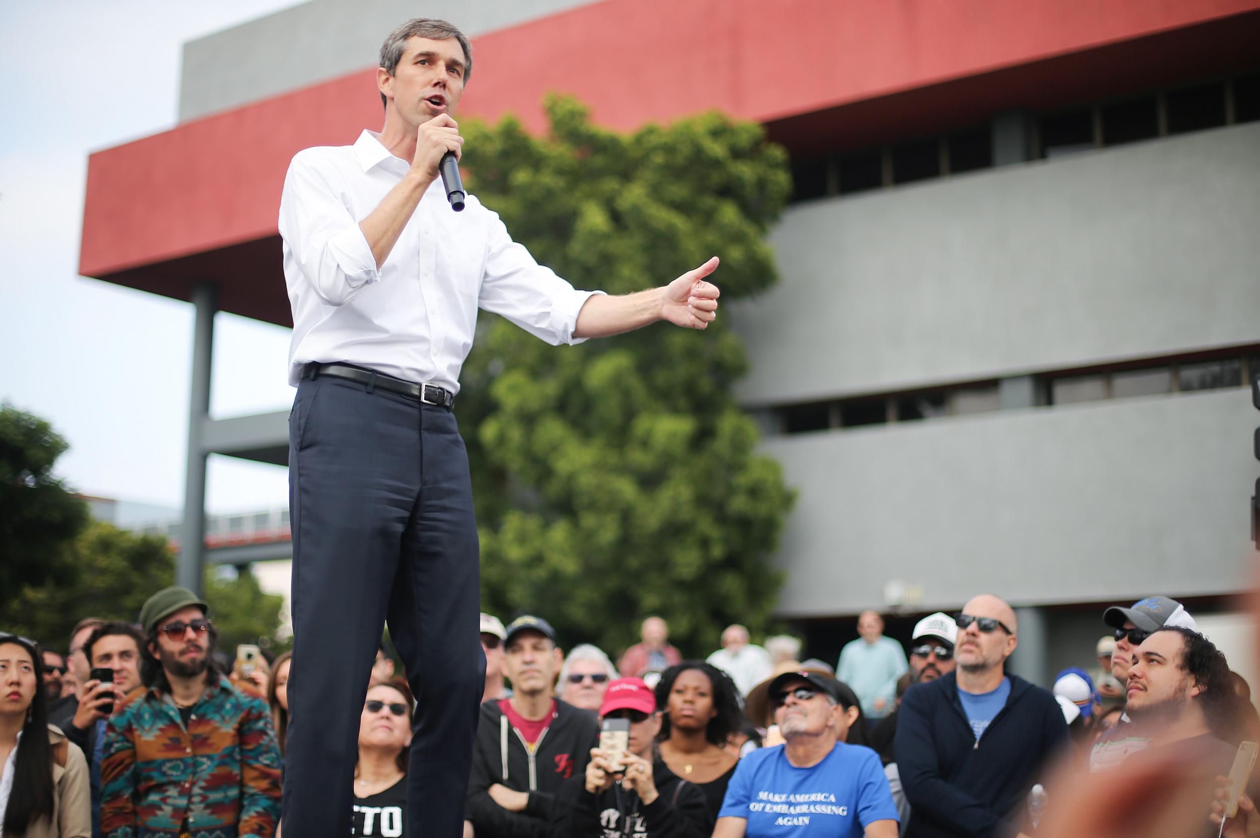
[(747, 838), (862, 838), (876, 820), (897, 820), (897, 806), (871, 749), (837, 742), (798, 769), (777, 745), (740, 760), (718, 818), (747, 819)]

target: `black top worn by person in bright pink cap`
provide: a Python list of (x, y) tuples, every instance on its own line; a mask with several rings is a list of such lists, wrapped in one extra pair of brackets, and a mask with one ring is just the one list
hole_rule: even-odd
[(713, 815), (704, 793), (659, 760), (651, 776), (656, 799), (644, 805), (636, 793), (617, 784), (591, 794), (585, 770), (575, 774), (556, 795), (552, 838), (708, 838)]

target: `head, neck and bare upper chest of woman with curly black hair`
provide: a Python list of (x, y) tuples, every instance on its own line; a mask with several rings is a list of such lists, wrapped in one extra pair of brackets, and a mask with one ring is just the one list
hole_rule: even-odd
[(664, 709), (660, 759), (704, 793), (716, 819), (738, 764), (726, 751), (731, 733), (743, 722), (735, 682), (717, 667), (684, 660), (662, 674), (656, 706)]

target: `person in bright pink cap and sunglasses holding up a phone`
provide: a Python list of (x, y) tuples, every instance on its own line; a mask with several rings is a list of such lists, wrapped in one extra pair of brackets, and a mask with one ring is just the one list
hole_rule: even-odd
[(592, 749), (586, 771), (564, 781), (552, 808), (553, 838), (592, 838), (610, 828), (635, 838), (708, 838), (713, 817), (704, 794), (656, 755), (660, 713), (648, 684), (640, 678), (609, 684), (600, 706), (601, 723), (607, 720), (629, 722), (629, 745)]

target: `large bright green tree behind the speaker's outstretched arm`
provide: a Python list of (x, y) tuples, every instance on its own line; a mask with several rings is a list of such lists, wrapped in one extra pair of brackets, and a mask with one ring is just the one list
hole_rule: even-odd
[(571, 98), (549, 136), (514, 118), (466, 125), (464, 165), (513, 237), (576, 287), (627, 294), (718, 255), (718, 320), (658, 325), (557, 349), (499, 318), (461, 376), (483, 600), (537, 610), (567, 641), (609, 651), (660, 614), (687, 651), (721, 629), (765, 629), (781, 582), (769, 565), (793, 503), (732, 383), (743, 348), (730, 302), (776, 281), (765, 234), (790, 178), (760, 126), (708, 113), (631, 135)]

